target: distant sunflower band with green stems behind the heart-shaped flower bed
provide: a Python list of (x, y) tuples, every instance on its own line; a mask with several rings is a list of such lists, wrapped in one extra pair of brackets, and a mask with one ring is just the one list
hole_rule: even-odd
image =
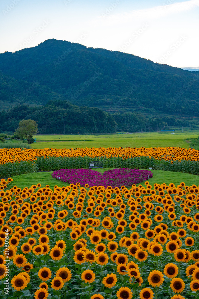
[(0, 177), (38, 171), (89, 168), (91, 161), (104, 168), (167, 170), (199, 175), (199, 151), (180, 147), (0, 149)]

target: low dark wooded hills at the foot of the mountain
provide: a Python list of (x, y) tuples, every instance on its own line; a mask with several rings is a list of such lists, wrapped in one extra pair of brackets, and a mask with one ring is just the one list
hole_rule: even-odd
[(49, 101), (45, 106), (17, 105), (0, 112), (0, 132), (14, 132), (22, 119), (38, 123), (39, 134), (83, 134), (115, 132), (151, 132), (167, 126), (199, 126), (198, 120), (174, 117), (151, 118), (140, 113), (112, 113), (99, 108), (76, 106), (67, 101)]

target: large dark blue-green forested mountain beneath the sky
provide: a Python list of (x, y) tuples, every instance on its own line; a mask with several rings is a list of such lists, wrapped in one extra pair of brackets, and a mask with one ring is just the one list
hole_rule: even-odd
[(49, 39), (0, 54), (0, 69), (5, 76), (0, 100), (43, 105), (67, 100), (109, 112), (130, 107), (199, 116), (198, 72), (132, 54)]

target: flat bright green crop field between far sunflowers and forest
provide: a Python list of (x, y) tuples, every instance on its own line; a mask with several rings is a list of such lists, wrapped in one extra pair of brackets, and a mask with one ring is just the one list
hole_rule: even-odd
[(197, 138), (199, 131), (131, 133), (114, 135), (36, 135), (32, 148), (85, 147), (182, 147), (189, 148), (187, 139)]

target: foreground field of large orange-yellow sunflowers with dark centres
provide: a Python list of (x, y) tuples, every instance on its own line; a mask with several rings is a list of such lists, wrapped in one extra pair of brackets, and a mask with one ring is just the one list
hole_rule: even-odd
[(0, 297), (199, 298), (199, 187), (0, 183)]

